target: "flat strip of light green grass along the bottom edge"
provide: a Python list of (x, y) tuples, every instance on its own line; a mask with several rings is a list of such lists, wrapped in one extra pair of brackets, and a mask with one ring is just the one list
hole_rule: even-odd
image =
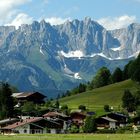
[(140, 140), (139, 134), (0, 135), (0, 140)]

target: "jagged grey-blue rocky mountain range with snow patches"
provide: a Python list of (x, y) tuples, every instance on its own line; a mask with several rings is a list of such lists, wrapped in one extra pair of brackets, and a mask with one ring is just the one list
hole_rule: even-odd
[(96, 21), (66, 21), (52, 26), (0, 26), (0, 80), (20, 91), (56, 97), (90, 81), (102, 66), (123, 68), (140, 52), (140, 24), (106, 30)]

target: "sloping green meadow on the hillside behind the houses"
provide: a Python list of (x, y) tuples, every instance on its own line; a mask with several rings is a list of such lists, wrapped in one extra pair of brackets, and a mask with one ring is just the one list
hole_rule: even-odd
[(87, 91), (82, 94), (65, 97), (60, 100), (61, 105), (67, 104), (72, 109), (77, 109), (79, 105), (86, 105), (87, 108), (94, 111), (103, 110), (103, 106), (108, 104), (115, 108), (121, 106), (121, 98), (125, 89), (136, 91), (138, 85), (131, 81), (126, 80), (120, 83), (108, 85), (105, 87), (97, 88), (92, 91)]

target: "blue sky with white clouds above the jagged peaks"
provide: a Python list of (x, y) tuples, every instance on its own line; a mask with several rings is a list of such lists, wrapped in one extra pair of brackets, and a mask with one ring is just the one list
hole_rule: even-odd
[(107, 29), (140, 22), (140, 0), (0, 0), (0, 25), (51, 24), (91, 17)]

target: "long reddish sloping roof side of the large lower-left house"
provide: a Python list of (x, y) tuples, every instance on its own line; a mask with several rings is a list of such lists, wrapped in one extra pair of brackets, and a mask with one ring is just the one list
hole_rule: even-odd
[(22, 121), (19, 121), (19, 122), (16, 122), (12, 125), (8, 125), (6, 127), (3, 127), (2, 129), (14, 129), (14, 128), (17, 128), (19, 126), (23, 126), (25, 124), (29, 124), (29, 123), (33, 123), (33, 122), (37, 122), (37, 121), (40, 121), (42, 120), (43, 118), (42, 117), (33, 117), (33, 118), (28, 118), (28, 119), (25, 119), (25, 120), (22, 120)]

